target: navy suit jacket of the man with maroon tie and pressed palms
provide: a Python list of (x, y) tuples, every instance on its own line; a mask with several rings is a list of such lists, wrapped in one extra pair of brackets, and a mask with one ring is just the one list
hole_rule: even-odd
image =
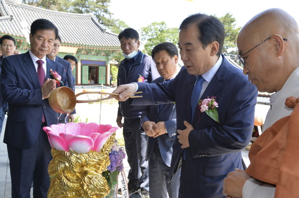
[[(46, 79), (53, 78), (50, 75), (52, 69), (61, 75), (61, 81), (67, 86), (64, 67), (48, 58), (46, 61)], [(48, 126), (57, 124), (57, 113), (50, 107), (48, 99), (42, 100), (41, 86), (29, 52), (3, 59), (1, 87), (9, 108), (3, 142), (28, 149), (37, 138), (43, 113)]]

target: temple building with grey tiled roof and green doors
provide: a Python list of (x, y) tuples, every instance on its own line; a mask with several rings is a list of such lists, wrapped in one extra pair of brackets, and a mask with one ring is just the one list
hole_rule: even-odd
[(29, 50), (31, 23), (45, 18), (58, 28), (62, 43), (58, 56), (73, 55), (78, 65), (72, 71), (76, 85), (110, 83), (113, 56), (121, 52), (118, 34), (108, 32), (93, 14), (77, 14), (48, 10), (20, 3), (20, 0), (0, 0), (0, 37), (8, 34), (16, 40), (21, 53)]

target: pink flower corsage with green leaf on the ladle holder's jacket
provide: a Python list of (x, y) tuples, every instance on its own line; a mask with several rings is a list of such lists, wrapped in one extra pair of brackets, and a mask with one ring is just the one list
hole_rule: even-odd
[(211, 98), (208, 97), (204, 100), (198, 101), (198, 108), (200, 109), (200, 112), (205, 112), (209, 117), (211, 117), (214, 121), (217, 123), (219, 122), (218, 112), (217, 108), (218, 103), (216, 102), (216, 97), (212, 96)]

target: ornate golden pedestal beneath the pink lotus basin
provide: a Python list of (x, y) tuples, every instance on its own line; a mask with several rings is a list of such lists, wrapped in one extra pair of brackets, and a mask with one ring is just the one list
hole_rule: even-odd
[(110, 192), (102, 172), (110, 164), (109, 153), (115, 142), (115, 132), (101, 152), (61, 151), (52, 148), (49, 163), (50, 188), (48, 198), (104, 198)]

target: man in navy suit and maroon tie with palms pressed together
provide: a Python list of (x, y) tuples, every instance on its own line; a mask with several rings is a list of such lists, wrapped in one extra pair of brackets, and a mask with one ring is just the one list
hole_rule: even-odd
[(2, 96), (9, 106), (4, 143), (7, 144), (12, 198), (29, 198), (32, 181), (33, 197), (47, 197), (48, 164), (52, 156), (42, 128), (57, 124), (57, 113), (47, 99), (56, 85), (50, 69), (57, 71), (67, 86), (64, 67), (46, 58), (57, 35), (52, 22), (37, 19), (30, 28), (30, 50), (6, 57), (2, 62)]

